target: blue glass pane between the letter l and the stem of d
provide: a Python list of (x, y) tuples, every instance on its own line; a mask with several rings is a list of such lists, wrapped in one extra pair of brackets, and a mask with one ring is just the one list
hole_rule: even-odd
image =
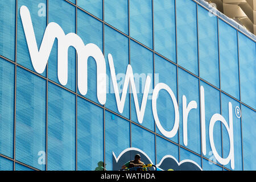
[[(205, 137), (206, 137), (206, 148), (207, 154), (206, 158), (213, 160), (212, 147), (210, 147), (209, 141), (209, 125), (210, 118), (213, 114), (220, 114), (220, 92), (217, 89), (214, 89), (212, 86), (205, 84), (201, 81), (200, 85), (204, 87), (204, 96), (205, 96)], [(202, 100), (203, 98), (201, 98)], [(228, 118), (226, 118), (228, 119)], [(218, 155), (222, 156), (222, 147), (221, 147), (221, 122), (217, 121), (213, 127), (213, 140), (215, 148), (218, 152)], [(215, 158), (214, 158), (215, 159)]]

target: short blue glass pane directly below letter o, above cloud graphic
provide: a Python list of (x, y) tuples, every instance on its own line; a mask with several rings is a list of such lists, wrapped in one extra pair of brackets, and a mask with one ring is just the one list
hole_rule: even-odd
[(156, 136), (156, 163), (159, 164), (166, 155), (174, 156), (176, 160), (179, 160), (179, 146)]

